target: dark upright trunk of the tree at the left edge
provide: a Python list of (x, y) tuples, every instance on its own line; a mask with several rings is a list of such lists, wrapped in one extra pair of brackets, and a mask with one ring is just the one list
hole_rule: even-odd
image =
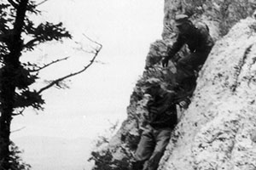
[(15, 76), (20, 67), (20, 54), (22, 50), (21, 31), (24, 26), (28, 0), (20, 1), (17, 7), (15, 26), (9, 38), (10, 53), (3, 56), (4, 66), (1, 71), (1, 116), (0, 116), (0, 169), (10, 169), (9, 144), (10, 124), (15, 104)]

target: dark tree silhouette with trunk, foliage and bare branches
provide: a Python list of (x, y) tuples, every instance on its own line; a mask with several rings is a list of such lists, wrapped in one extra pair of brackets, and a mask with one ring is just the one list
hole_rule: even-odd
[(41, 14), (37, 7), (45, 2), (47, 0), (3, 0), (0, 4), (0, 170), (12, 169), (9, 136), (14, 116), (22, 114), (27, 107), (42, 110), (42, 93), (55, 86), (63, 88), (62, 81), (86, 71), (102, 48), (100, 43), (87, 37), (96, 45), (91, 51), (92, 59), (89, 64), (67, 76), (48, 81), (49, 83), (39, 90), (32, 89), (31, 85), (39, 79), (40, 71), (68, 58), (56, 59), (42, 66), (31, 62), (22, 63), (20, 56), (44, 42), (72, 38), (61, 22), (36, 25), (30, 19), (31, 14)]

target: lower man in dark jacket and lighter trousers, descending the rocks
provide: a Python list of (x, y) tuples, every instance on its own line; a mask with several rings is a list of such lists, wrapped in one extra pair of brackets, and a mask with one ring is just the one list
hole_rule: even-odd
[(176, 105), (187, 108), (190, 103), (189, 97), (180, 98), (175, 88), (167, 90), (161, 87), (159, 79), (148, 79), (146, 87), (145, 94), (150, 95), (147, 104), (147, 126), (137, 145), (132, 170), (157, 169), (171, 138), (172, 130), (177, 124)]

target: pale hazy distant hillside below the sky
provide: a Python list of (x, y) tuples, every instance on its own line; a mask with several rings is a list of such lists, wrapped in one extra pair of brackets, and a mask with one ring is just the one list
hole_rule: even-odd
[(86, 170), (91, 163), (92, 142), (90, 139), (62, 139), (28, 136), (14, 139), (20, 150), (25, 150), (23, 159), (32, 170)]

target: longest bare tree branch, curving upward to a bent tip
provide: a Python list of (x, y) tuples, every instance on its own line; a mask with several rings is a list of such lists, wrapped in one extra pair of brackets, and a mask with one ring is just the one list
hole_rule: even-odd
[[(85, 35), (84, 35), (84, 36), (85, 36)], [(87, 37), (87, 36), (85, 36), (85, 37)], [(87, 37), (87, 38), (88, 38), (91, 42), (95, 42), (95, 41), (91, 40), (89, 37)], [(59, 86), (59, 83), (60, 83), (61, 81), (65, 80), (65, 79), (67, 79), (67, 78), (74, 77), (74, 76), (76, 76), (76, 75), (78, 75), (78, 74), (80, 74), (80, 73), (86, 71), (86, 70), (90, 67), (90, 65), (92, 65), (92, 64), (94, 63), (94, 61), (95, 61), (95, 59), (96, 59), (96, 56), (97, 56), (97, 55), (99, 54), (99, 52), (102, 50), (102, 44), (99, 43), (99, 42), (95, 42), (95, 43), (99, 46), (99, 48), (95, 49), (95, 53), (94, 53), (93, 58), (90, 60), (90, 63), (89, 63), (88, 65), (84, 66), (84, 69), (82, 69), (82, 70), (80, 70), (80, 71), (73, 72), (73, 73), (71, 73), (71, 74), (69, 74), (69, 75), (67, 75), (67, 76), (65, 76), (65, 77), (61, 77), (61, 78), (58, 78), (58, 79), (56, 79), (56, 80), (50, 82), (47, 86), (45, 86), (44, 88), (41, 88), (40, 90), (38, 90), (38, 94), (41, 94), (42, 92), (44, 92), (44, 90), (46, 90), (46, 89), (48, 89), (48, 88), (51, 88), (51, 87), (53, 87), (54, 85)]]

